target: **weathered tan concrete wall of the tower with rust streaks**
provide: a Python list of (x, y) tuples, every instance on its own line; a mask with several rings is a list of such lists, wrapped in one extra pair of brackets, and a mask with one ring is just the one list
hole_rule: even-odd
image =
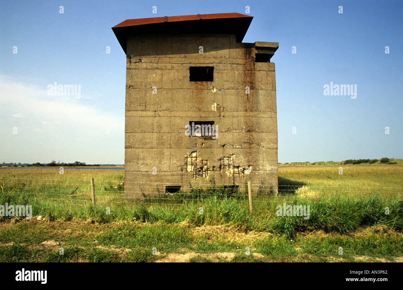
[[(164, 193), (168, 185), (187, 191), (189, 183), (206, 185), (212, 178), (277, 190), (274, 63), (255, 63), (255, 52), (254, 43), (237, 43), (235, 35), (128, 38), (127, 200), (157, 187)], [(214, 81), (190, 82), (189, 66), (214, 66)], [(214, 121), (218, 138), (185, 135), (189, 121)]]

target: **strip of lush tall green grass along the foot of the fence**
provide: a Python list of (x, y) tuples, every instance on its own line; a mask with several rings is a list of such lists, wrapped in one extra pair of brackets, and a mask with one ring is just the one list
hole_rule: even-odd
[[(19, 196), (13, 196), (11, 204), (23, 204)], [(24, 202), (27, 200), (24, 200)], [(303, 216), (276, 216), (276, 206), (309, 205), (310, 218)], [(187, 222), (193, 226), (226, 225), (234, 226), (241, 231), (261, 231), (275, 234), (287, 234), (293, 237), (297, 232), (324, 230), (325, 232), (353, 232), (360, 227), (386, 225), (396, 231), (403, 229), (403, 199), (386, 201), (380, 195), (337, 196), (326, 197), (270, 197), (264, 206), (255, 207), (249, 214), (249, 205), (243, 201), (210, 196), (198, 201), (189, 200), (176, 207), (164, 205), (145, 206), (144, 204), (110, 205), (110, 214), (106, 214), (103, 206), (83, 205), (66, 206), (52, 202), (32, 199), (33, 215), (50, 220), (69, 221), (73, 218), (94, 220), (108, 223), (112, 221), (131, 220), (139, 222)], [(200, 214), (200, 208), (203, 213)], [(385, 208), (389, 214), (385, 214)]]

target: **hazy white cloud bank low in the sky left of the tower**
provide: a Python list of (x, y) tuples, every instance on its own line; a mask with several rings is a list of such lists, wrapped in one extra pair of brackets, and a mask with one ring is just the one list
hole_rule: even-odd
[[(74, 96), (48, 96), (46, 87), (0, 75), (0, 156), (4, 162), (123, 163), (124, 114)], [(18, 112), (18, 113), (17, 113)], [(18, 134), (13, 134), (13, 128)], [(8, 135), (7, 135), (8, 134)], [(8, 161), (7, 161), (8, 160)], [(40, 161), (38, 161), (40, 160)]]

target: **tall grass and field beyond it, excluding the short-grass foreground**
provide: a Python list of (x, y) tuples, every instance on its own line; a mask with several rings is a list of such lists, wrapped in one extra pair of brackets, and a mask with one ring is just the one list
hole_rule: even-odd
[[(12, 194), (3, 194), (2, 204), (31, 204), (33, 216), (49, 220), (187, 222), (194, 226), (228, 225), (245, 232), (272, 232), (293, 237), (303, 231), (346, 233), (378, 224), (402, 231), (402, 170), (403, 167), (395, 165), (344, 166), (343, 175), (339, 175), (333, 167), (279, 169), (280, 195), (255, 194), (253, 214), (249, 213), (246, 192), (214, 183), (207, 189), (191, 188), (190, 194), (164, 193), (145, 198), (143, 204), (134, 204), (124, 202), (123, 172), (72, 169), (60, 175), (56, 169), (14, 169), (0, 171), (0, 174), (3, 177), (8, 172), (15, 175), (5, 183), (5, 193), (17, 188)], [(89, 197), (66, 197), (76, 187), (79, 189), (73, 194), (90, 195), (91, 177), (96, 180), (95, 207)], [(310, 189), (301, 191), (303, 185)], [(367, 189), (363, 190), (362, 186)], [(287, 190), (281, 192), (281, 188)], [(309, 205), (310, 218), (276, 216), (276, 206), (283, 202)], [(385, 208), (389, 208), (389, 214), (385, 214)]]

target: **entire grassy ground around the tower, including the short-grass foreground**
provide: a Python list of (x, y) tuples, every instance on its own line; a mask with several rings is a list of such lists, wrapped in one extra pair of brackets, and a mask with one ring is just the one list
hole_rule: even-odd
[[(123, 171), (0, 169), (1, 204), (33, 205), (31, 220), (0, 217), (0, 261), (402, 261), (403, 165), (279, 167), (278, 176), (280, 195), (255, 192), (249, 214), (245, 193), (220, 187), (133, 204)], [(91, 177), (96, 207), (66, 196), (90, 195)], [(277, 216), (283, 202), (310, 205), (310, 218)]]

